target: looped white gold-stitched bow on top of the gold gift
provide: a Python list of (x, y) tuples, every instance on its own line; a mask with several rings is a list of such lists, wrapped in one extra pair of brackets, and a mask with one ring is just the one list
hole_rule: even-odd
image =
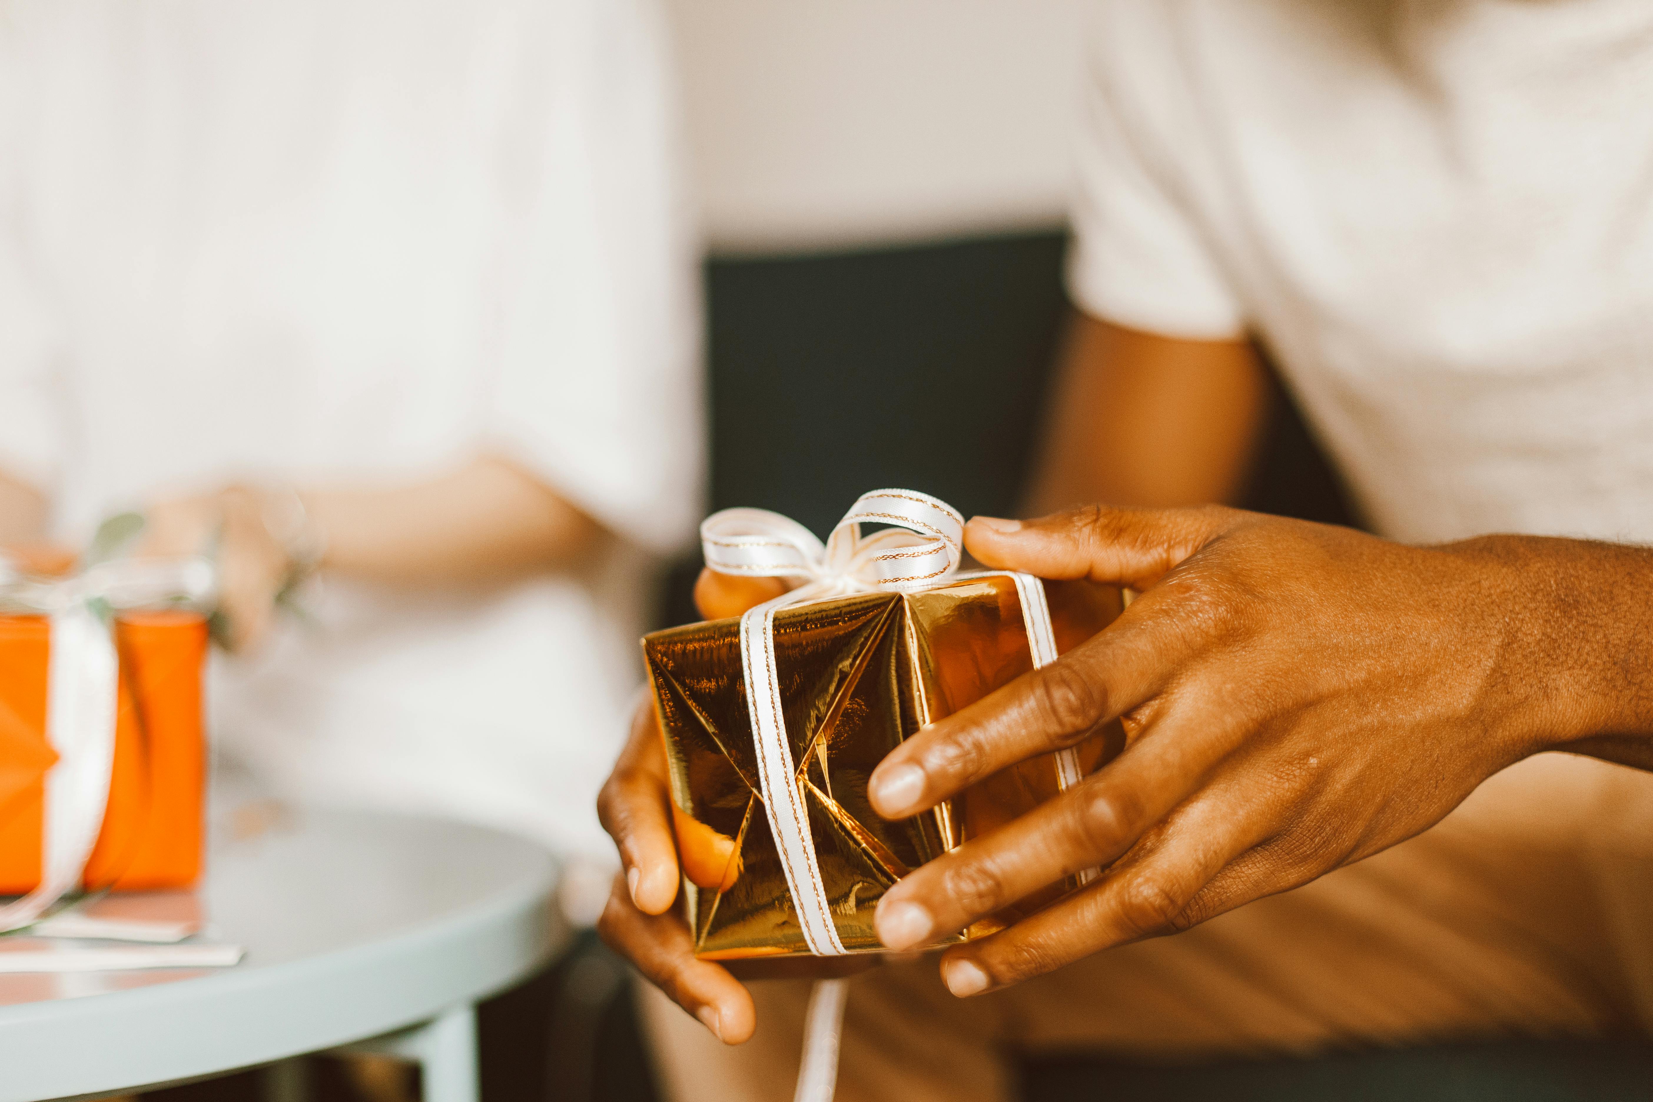
[[(888, 524), (861, 535), (863, 524)], [(807, 527), (767, 509), (724, 509), (701, 524), (706, 565), (717, 573), (803, 578), (793, 601), (868, 590), (939, 585), (964, 557), (964, 517), (929, 494), (874, 489), (861, 494), (825, 544)]]

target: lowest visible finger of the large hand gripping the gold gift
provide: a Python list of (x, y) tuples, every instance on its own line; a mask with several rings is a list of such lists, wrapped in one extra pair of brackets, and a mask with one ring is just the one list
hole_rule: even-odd
[(980, 995), (1114, 945), (1197, 925), (1210, 917), (1195, 907), (1205, 886), (1266, 834), (1266, 815), (1236, 818), (1230, 801), (1202, 800), (1099, 882), (1007, 930), (949, 950), (942, 980), (960, 998)]

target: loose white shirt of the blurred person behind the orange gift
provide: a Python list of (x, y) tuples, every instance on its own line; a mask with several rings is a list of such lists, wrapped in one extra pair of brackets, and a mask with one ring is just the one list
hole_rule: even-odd
[(610, 853), (646, 553), (699, 511), (696, 249), (650, 0), (0, 3), (0, 466), (58, 535), (233, 477), (503, 453), (620, 547), (329, 582), (220, 659), (276, 790)]

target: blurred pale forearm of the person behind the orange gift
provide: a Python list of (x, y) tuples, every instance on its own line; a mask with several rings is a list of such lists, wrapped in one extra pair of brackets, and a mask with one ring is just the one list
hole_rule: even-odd
[(473, 583), (575, 563), (602, 527), (516, 464), (478, 458), (435, 479), (299, 494), (321, 567), (397, 585)]

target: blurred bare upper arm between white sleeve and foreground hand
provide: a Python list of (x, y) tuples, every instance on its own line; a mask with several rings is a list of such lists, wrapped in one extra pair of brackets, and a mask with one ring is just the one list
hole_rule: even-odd
[(1243, 340), (1179, 340), (1078, 314), (1027, 512), (1231, 502), (1266, 406), (1266, 373)]

